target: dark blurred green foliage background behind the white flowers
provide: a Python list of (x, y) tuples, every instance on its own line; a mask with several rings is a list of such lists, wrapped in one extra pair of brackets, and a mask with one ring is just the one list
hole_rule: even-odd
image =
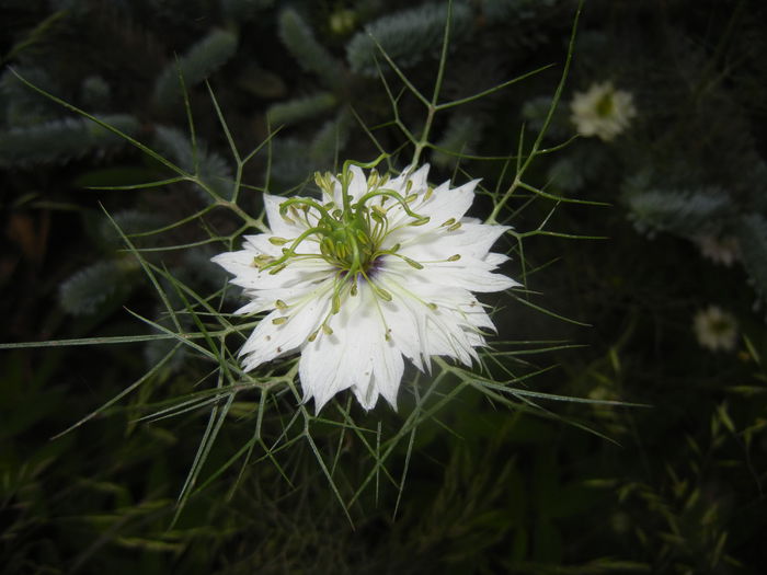
[[(431, 180), (483, 177), (478, 217), (492, 208), (494, 183), (504, 179), (503, 160), (481, 158), (514, 154), (523, 123), (531, 134), (540, 129), (575, 9), (570, 0), (455, 2), (445, 99), (557, 65), (435, 119), (423, 151)], [(398, 92), (397, 76), (366, 31), (428, 93), (446, 13), (446, 2), (377, 0), (7, 0), (0, 54), (3, 66), (35, 85), (179, 166), (196, 166), (217, 191), (237, 166), (208, 80), (241, 149), (268, 141), (243, 181), (289, 192), (339, 160), (370, 160), (378, 145), (397, 149), (405, 141), (399, 127), (422, 127), (419, 102)], [(396, 444), (387, 463), (398, 478), (407, 468), (404, 485), (379, 485), (377, 475), (345, 511), (306, 444), (279, 451), (276, 462), (254, 459), (211, 478), (253, 435), (261, 398), (241, 394), (197, 478), (204, 488), (173, 521), (209, 409), (138, 419), (172, 398), (210, 389), (208, 367), (183, 353), (160, 363), (173, 348), (167, 340), (4, 349), (0, 570), (763, 573), (765, 26), (767, 8), (756, 0), (586, 0), (546, 142), (574, 135), (568, 103), (594, 82), (611, 80), (631, 92), (638, 116), (611, 142), (581, 138), (536, 160), (533, 177), (564, 198), (550, 218), (551, 203), (529, 195), (503, 214), (517, 230), (546, 220), (570, 235), (607, 239), (541, 234), (526, 239), (524, 256), (511, 248), (511, 274), (529, 274), (526, 285), (539, 295), (493, 301), (500, 361), (488, 369), (536, 373), (525, 380), (531, 391), (651, 407), (542, 402), (546, 412), (510, 410), (446, 371), (438, 395), (460, 391)], [(394, 88), (397, 117), (381, 74)], [(240, 222), (213, 209), (208, 196), (186, 182), (94, 189), (169, 174), (8, 68), (0, 114), (4, 343), (157, 333), (126, 308), (168, 321), (100, 204), (137, 249), (187, 246), (146, 252), (152, 264), (198, 294), (221, 289), (225, 274), (208, 258), (224, 250), (214, 240), (236, 233)], [(411, 152), (402, 152), (398, 168)], [(241, 207), (253, 217), (259, 197), (242, 192)], [(160, 245), (144, 234), (195, 212), (204, 217), (173, 227)], [(741, 258), (725, 267), (703, 257), (700, 234), (736, 238)], [(226, 298), (233, 308), (236, 294)], [(692, 317), (709, 304), (737, 318), (734, 352), (698, 345)], [(152, 367), (151, 384), (50, 440)], [(402, 393), (401, 413), (415, 401)], [(379, 405), (367, 418), (350, 413), (375, 430), (404, 417), (387, 410)], [(289, 417), (271, 412), (266, 440), (278, 439)], [(367, 473), (359, 442), (350, 436), (336, 442), (332, 425), (318, 425), (313, 437), (339, 453), (336, 488), (355, 493)]]

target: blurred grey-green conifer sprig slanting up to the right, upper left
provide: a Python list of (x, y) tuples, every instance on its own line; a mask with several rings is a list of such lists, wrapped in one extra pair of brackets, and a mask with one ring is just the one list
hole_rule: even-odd
[(195, 85), (221, 66), (237, 51), (238, 36), (227, 30), (214, 30), (194, 46), (192, 46), (178, 61), (172, 60), (154, 84), (154, 102), (162, 108), (168, 108), (181, 101), (181, 84), (179, 76), (185, 85)]

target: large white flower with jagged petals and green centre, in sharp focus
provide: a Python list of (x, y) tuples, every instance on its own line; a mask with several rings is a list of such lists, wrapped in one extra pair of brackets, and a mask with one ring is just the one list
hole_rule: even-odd
[(252, 370), (300, 352), (304, 399), (319, 410), (351, 388), (366, 410), (379, 395), (396, 407), (403, 356), (471, 365), (493, 323), (472, 291), (518, 285), (495, 273), (490, 252), (508, 228), (465, 217), (478, 181), (431, 187), (428, 165), (380, 177), (346, 162), (316, 174), (320, 198), (264, 195), (270, 232), (214, 262), (266, 315), (240, 355)]

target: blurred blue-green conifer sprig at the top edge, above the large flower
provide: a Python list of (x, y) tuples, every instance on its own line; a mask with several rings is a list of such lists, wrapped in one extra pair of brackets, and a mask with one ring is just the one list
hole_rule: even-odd
[[(376, 59), (380, 59), (380, 53), (376, 43), (400, 68), (438, 54), (447, 12), (447, 2), (431, 3), (376, 20), (365, 31), (355, 34), (346, 46), (352, 70), (370, 77), (378, 74)], [(455, 46), (471, 30), (471, 9), (466, 2), (453, 2), (449, 26)]]

